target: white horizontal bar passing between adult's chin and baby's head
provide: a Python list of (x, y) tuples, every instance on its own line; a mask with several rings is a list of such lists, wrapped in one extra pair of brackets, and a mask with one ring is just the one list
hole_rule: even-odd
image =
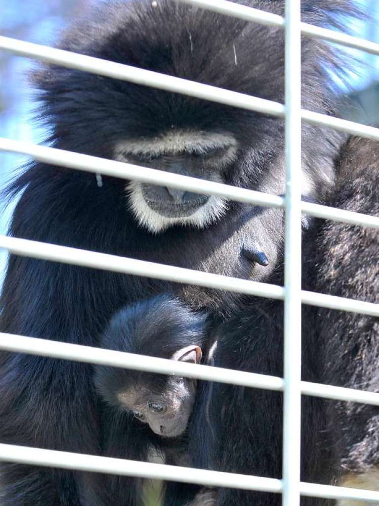
[[(113, 272), (122, 272), (134, 276), (165, 279), (175, 283), (187, 283), (197, 286), (207, 286), (226, 291), (247, 293), (258, 297), (282, 300), (285, 289), (282, 286), (250, 281), (247, 279), (232, 278), (212, 274), (209, 272), (183, 269), (171, 265), (157, 264), (126, 257), (118, 257), (87, 249), (58, 246), (46, 242), (19, 239), (0, 235), (0, 248), (8, 249), (15, 255), (62, 262), (64, 264), (81, 265), (94, 269), (104, 269)], [(379, 316), (379, 304), (354, 301), (344, 297), (335, 297), (322, 293), (302, 290), (302, 302), (311, 306), (321, 306), (340, 311)]]

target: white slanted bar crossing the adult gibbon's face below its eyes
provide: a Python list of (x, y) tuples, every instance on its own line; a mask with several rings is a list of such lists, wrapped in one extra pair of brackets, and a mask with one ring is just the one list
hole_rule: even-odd
[[(284, 204), (284, 198), (279, 195), (270, 195), (268, 193), (236, 186), (158, 171), (149, 167), (141, 167), (130, 163), (83, 155), (73, 151), (65, 151), (47, 146), (39, 146), (29, 142), (16, 141), (5, 137), (0, 137), (0, 151), (22, 153), (32, 156), (41, 162), (74, 168), (79, 171), (91, 172), (93, 174), (100, 173), (104, 176), (112, 176), (121, 179), (133, 179), (159, 186), (170, 186), (182, 190), (191, 190), (195, 193), (218, 195), (238, 202), (259, 204), (269, 207), (282, 207)], [(375, 216), (353, 213), (352, 211), (305, 201), (302, 201), (302, 210), (304, 213), (318, 218), (333, 219), (343, 223), (379, 228), (379, 217)]]

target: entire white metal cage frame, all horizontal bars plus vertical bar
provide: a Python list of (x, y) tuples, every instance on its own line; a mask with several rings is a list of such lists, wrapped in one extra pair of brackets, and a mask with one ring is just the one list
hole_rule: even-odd
[[(179, 1), (179, 0), (178, 0)], [(171, 360), (143, 357), (128, 353), (102, 350), (28, 336), (0, 333), (0, 349), (56, 357), (65, 360), (89, 362), (137, 370), (180, 374), (208, 381), (218, 381), (251, 388), (282, 391), (284, 396), (283, 418), (283, 479), (220, 473), (154, 463), (135, 462), (108, 457), (96, 457), (0, 444), (0, 459), (77, 469), (91, 472), (115, 473), (164, 480), (200, 483), (210, 486), (228, 486), (247, 490), (282, 493), (283, 506), (296, 506), (300, 495), (360, 499), (379, 502), (379, 492), (300, 482), (300, 401), (301, 395), (339, 399), (379, 405), (379, 393), (352, 390), (330, 385), (301, 381), (301, 304), (353, 311), (379, 316), (379, 305), (361, 301), (325, 296), (301, 290), (301, 213), (320, 218), (379, 228), (379, 218), (352, 213), (342, 209), (301, 202), (297, 177), (301, 164), (301, 120), (327, 126), (369, 139), (379, 140), (379, 129), (302, 110), (300, 105), (300, 36), (320, 37), (334, 43), (361, 49), (379, 55), (379, 44), (350, 35), (316, 27), (300, 21), (300, 0), (286, 0), (286, 18), (226, 0), (180, 0), (187, 4), (213, 10), (269, 26), (285, 29), (286, 37), (286, 97), (285, 105), (251, 97), (241, 93), (218, 89), (166, 76), (157, 72), (137, 69), (127, 65), (78, 55), (24, 41), (0, 36), (0, 49), (20, 56), (28, 56), (67, 67), (98, 73), (109, 77), (153, 86), (174, 93), (220, 102), (235, 107), (284, 117), (286, 121), (287, 186), (285, 197), (268, 195), (253, 190), (231, 187), (210, 181), (197, 180), (168, 174), (151, 168), (105, 160), (45, 146), (0, 138), (0, 151), (12, 151), (30, 155), (48, 163), (63, 165), (75, 170), (104, 174), (125, 179), (135, 179), (163, 186), (188, 189), (198, 193), (220, 195), (230, 200), (249, 202), (263, 206), (284, 207), (286, 216), (285, 286), (258, 283), (229, 278), (210, 273), (192, 271), (167, 265), (159, 265), (134, 259), (115, 257), (93, 251), (85, 251), (26, 239), (0, 236), (0, 247), (16, 254), (60, 261), (92, 268), (112, 270), (138, 276), (149, 276), (174, 282), (185, 282), (229, 291), (254, 294), (284, 300), (285, 302), (285, 374), (284, 378), (243, 371), (190, 365)], [(54, 336), (51, 336), (54, 339)]]

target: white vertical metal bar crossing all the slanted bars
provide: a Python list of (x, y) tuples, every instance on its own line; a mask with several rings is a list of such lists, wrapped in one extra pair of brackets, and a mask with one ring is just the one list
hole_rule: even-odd
[(300, 0), (286, 0), (286, 245), (283, 506), (300, 504), (301, 430), (301, 29)]

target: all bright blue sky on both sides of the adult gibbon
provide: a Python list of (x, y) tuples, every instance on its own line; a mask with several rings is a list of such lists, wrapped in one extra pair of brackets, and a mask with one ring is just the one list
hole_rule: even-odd
[[(59, 31), (97, 0), (0, 0), (0, 34), (37, 44), (52, 45)], [(360, 0), (371, 23), (352, 22), (357, 36), (379, 42), (379, 0)], [(379, 80), (379, 58), (359, 51), (352, 56), (364, 66), (351, 73), (350, 85), (363, 89)], [(0, 50), (0, 136), (40, 142), (44, 132), (33, 121), (33, 94), (28, 87), (27, 72), (35, 63)], [(359, 68), (358, 68), (359, 67)], [(24, 159), (19, 155), (0, 152), (0, 187), (4, 187)], [(5, 233), (11, 214), (0, 208), (0, 233)], [(6, 253), (0, 252), (0, 272)]]

